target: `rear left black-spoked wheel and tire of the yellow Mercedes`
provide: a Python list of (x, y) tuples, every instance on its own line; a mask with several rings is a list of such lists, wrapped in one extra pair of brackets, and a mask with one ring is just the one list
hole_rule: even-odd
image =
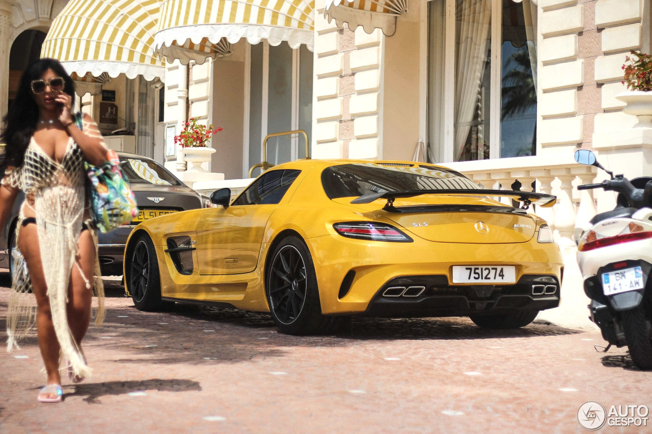
[(303, 240), (286, 237), (269, 258), (265, 293), (280, 332), (299, 335), (329, 332), (338, 321), (321, 313), (315, 267)]

